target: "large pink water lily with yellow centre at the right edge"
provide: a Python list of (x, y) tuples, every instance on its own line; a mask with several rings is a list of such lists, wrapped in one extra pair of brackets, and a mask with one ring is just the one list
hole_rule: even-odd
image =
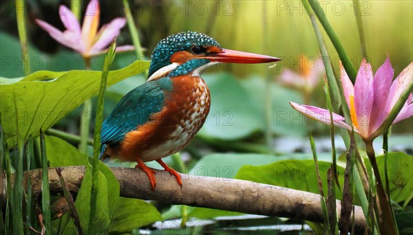
[[(359, 133), (363, 139), (371, 140), (380, 135), (376, 131), (381, 127), (390, 111), (392, 111), (397, 100), (406, 89), (412, 87), (413, 63), (410, 63), (402, 72), (393, 79), (394, 70), (389, 58), (377, 69), (376, 74), (372, 72), (370, 63), (366, 59), (361, 63), (355, 85), (352, 85), (346, 71), (341, 66), (341, 83), (343, 85), (344, 97), (350, 108), (350, 117), (354, 126), (354, 131)], [(330, 113), (326, 109), (301, 105), (290, 102), (291, 106), (319, 122), (330, 124)], [(396, 116), (393, 123), (405, 120), (413, 116), (412, 93), (407, 98), (403, 108)], [(351, 130), (351, 126), (346, 124), (345, 118), (333, 113), (332, 122), (335, 126), (340, 126)]]

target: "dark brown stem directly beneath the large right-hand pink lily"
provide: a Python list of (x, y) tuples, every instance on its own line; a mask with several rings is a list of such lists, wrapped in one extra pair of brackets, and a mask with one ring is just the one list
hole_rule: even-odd
[(393, 218), (392, 208), (390, 208), (390, 201), (388, 195), (385, 193), (383, 183), (381, 181), (379, 166), (377, 166), (376, 155), (374, 153), (373, 142), (366, 141), (366, 153), (370, 164), (372, 165), (374, 177), (376, 177), (376, 191), (377, 191), (377, 219), (379, 221), (379, 230), (381, 234), (399, 234), (397, 225)]

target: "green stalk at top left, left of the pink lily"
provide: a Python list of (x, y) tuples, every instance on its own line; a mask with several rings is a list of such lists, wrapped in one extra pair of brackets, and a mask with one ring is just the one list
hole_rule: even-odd
[(29, 67), (29, 54), (28, 54), (28, 37), (26, 34), (25, 16), (27, 14), (25, 8), (25, 1), (16, 0), (16, 14), (17, 14), (17, 29), (19, 31), (21, 55), (23, 58), (23, 71), (24, 75), (30, 74)]

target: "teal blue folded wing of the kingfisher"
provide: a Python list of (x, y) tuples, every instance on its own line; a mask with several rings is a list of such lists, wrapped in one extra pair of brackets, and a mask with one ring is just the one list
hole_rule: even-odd
[(148, 122), (153, 113), (161, 111), (165, 102), (164, 91), (169, 89), (171, 80), (160, 78), (129, 91), (103, 122), (100, 144), (121, 142), (126, 133)]

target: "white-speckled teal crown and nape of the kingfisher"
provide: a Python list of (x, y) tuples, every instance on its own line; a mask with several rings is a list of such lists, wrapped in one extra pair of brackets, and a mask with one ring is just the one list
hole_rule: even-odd
[(153, 49), (148, 78), (158, 69), (170, 65), (170, 58), (175, 52), (189, 50), (193, 45), (221, 47), (207, 34), (198, 32), (180, 32), (162, 39)]

